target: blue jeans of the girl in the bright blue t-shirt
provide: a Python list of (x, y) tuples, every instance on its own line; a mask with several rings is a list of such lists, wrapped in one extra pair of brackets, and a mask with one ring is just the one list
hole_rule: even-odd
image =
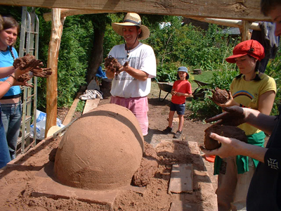
[(11, 160), (15, 158), (18, 136), (20, 134), (20, 123), (22, 120), (22, 108), (20, 104), (1, 104), (1, 119), (6, 132)]

